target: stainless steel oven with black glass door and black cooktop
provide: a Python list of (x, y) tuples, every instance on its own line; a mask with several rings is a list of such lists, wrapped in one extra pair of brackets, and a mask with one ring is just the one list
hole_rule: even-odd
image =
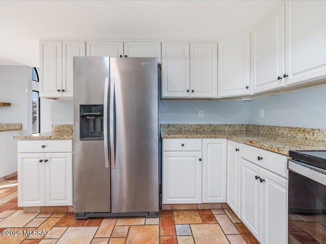
[(326, 243), (326, 151), (290, 151), (288, 243)]

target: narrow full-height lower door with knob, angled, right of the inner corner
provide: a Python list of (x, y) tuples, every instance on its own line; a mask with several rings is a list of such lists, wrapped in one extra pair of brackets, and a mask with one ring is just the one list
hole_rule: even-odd
[(240, 218), (240, 143), (228, 140), (226, 202)]

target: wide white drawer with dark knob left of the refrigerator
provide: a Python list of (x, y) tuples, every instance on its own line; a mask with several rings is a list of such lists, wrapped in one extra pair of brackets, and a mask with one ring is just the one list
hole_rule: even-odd
[(57, 153), (72, 151), (72, 140), (18, 140), (18, 153)]

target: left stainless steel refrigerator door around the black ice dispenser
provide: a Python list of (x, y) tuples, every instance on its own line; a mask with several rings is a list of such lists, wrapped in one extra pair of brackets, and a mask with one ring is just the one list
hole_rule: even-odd
[(103, 104), (109, 58), (74, 57), (73, 62), (74, 212), (111, 212), (110, 168), (105, 167), (104, 142), (79, 140), (79, 105)]

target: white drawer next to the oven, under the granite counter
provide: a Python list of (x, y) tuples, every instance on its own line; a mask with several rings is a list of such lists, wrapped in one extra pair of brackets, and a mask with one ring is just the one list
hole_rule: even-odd
[(273, 153), (271, 151), (260, 149), (247, 144), (241, 144), (241, 158), (287, 178), (288, 157), (284, 155)]

